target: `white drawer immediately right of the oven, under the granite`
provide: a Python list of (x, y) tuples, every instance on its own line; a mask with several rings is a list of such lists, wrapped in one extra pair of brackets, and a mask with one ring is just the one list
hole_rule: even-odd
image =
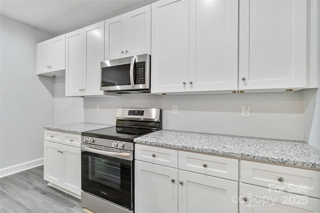
[(135, 159), (167, 167), (178, 167), (178, 151), (135, 144)]

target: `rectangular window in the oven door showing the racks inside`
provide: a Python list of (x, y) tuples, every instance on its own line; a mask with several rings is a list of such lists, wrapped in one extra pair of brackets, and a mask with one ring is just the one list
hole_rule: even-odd
[(121, 164), (119, 162), (89, 156), (89, 180), (120, 189)]

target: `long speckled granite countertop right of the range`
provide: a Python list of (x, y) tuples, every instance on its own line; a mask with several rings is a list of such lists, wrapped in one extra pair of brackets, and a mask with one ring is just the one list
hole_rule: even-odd
[(320, 150), (303, 141), (160, 130), (134, 142), (320, 170)]

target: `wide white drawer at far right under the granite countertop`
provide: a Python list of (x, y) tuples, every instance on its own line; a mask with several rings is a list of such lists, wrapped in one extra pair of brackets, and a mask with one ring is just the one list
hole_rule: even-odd
[(240, 161), (240, 182), (320, 198), (320, 172)]

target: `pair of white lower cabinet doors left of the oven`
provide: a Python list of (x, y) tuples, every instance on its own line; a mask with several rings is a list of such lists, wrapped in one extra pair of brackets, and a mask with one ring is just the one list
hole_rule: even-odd
[(76, 195), (80, 195), (80, 148), (44, 141), (43, 179)]

